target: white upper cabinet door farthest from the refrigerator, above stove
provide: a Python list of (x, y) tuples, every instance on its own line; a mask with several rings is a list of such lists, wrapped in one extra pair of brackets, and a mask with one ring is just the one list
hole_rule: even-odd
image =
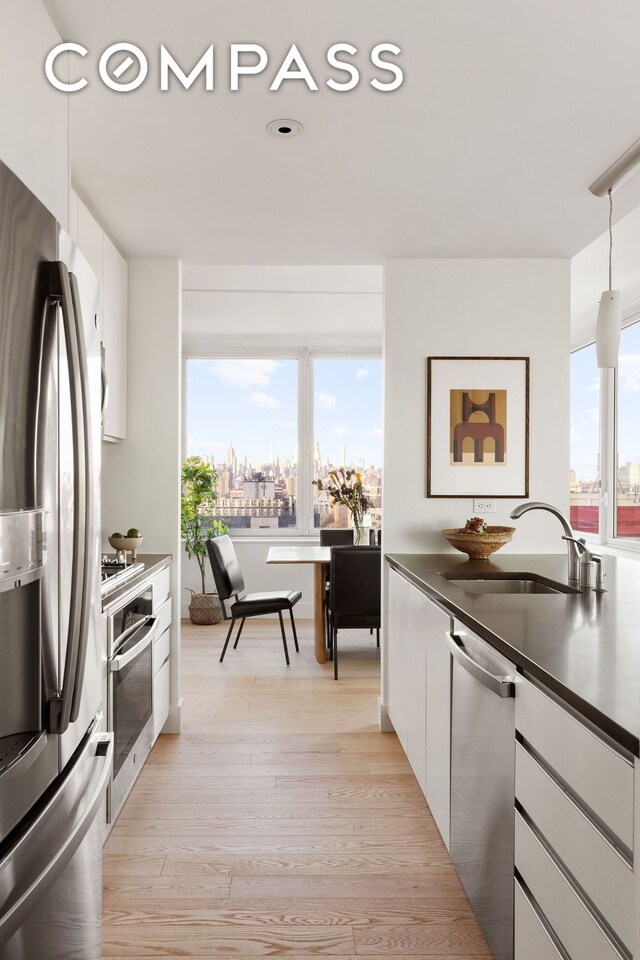
[(104, 237), (104, 324), (102, 341), (109, 384), (104, 413), (104, 436), (124, 440), (127, 435), (127, 261)]

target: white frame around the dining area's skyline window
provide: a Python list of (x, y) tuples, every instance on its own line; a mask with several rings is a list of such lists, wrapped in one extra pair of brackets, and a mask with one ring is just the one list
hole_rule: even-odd
[(241, 348), (226, 345), (216, 346), (215, 349), (191, 350), (183, 356), (182, 371), (182, 461), (187, 457), (187, 424), (189, 421), (189, 361), (190, 360), (296, 360), (298, 364), (298, 424), (297, 424), (297, 495), (296, 495), (296, 525), (295, 527), (271, 527), (266, 529), (232, 529), (229, 535), (232, 538), (249, 539), (281, 539), (290, 540), (313, 539), (318, 540), (320, 531), (313, 526), (313, 444), (314, 444), (314, 384), (313, 361), (316, 359), (382, 359), (382, 350), (375, 349), (369, 344), (363, 344), (362, 349), (355, 345), (345, 347), (337, 345), (314, 346), (313, 348), (291, 348), (286, 345), (252, 344)]

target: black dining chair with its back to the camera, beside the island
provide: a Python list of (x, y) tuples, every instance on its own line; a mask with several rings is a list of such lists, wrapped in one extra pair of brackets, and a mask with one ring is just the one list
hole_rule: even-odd
[(329, 581), (329, 652), (338, 679), (338, 630), (376, 631), (380, 646), (380, 547), (332, 547)]

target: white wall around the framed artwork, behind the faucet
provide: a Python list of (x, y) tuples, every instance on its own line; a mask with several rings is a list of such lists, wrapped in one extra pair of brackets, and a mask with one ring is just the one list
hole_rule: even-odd
[[(473, 515), (471, 499), (426, 497), (426, 358), (528, 356), (529, 499), (569, 509), (568, 260), (390, 260), (385, 264), (385, 553), (453, 553), (440, 531)], [(487, 519), (517, 527), (510, 553), (563, 553), (558, 521)], [(384, 600), (383, 600), (384, 602)], [(386, 702), (383, 643), (383, 697)]]

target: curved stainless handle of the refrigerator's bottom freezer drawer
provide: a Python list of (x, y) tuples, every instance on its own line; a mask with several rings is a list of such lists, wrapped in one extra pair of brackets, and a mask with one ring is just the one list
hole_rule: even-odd
[(19, 930), (35, 903), (53, 886), (87, 835), (95, 820), (96, 811), (104, 800), (104, 792), (111, 777), (113, 766), (113, 735), (109, 733), (100, 734), (97, 741), (95, 739), (89, 740), (87, 748), (95, 749), (95, 762), (96, 765), (100, 764), (100, 772), (91, 799), (86, 806), (82, 819), (75, 824), (69, 836), (65, 837), (55, 857), (25, 890), (20, 899), (0, 919), (0, 946), (5, 944), (16, 930)]

